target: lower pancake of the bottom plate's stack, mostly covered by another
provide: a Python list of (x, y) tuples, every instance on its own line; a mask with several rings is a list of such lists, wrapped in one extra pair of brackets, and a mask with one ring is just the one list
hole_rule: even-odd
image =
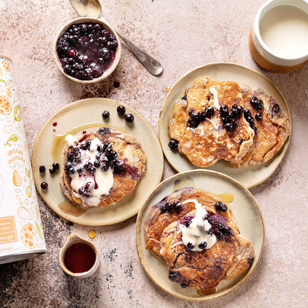
[[(193, 203), (183, 204), (185, 200), (191, 198), (198, 200), (203, 206), (213, 210), (217, 207), (216, 203), (218, 206), (223, 206), (223, 209), (228, 208), (227, 204), (223, 205), (221, 197), (204, 189), (185, 187), (176, 190), (153, 205), (149, 210), (144, 222), (146, 249), (151, 249), (153, 253), (161, 257), (160, 239), (164, 228), (195, 209)], [(233, 221), (236, 228), (235, 218), (230, 208), (222, 212), (222, 215), (227, 217), (229, 221)]]

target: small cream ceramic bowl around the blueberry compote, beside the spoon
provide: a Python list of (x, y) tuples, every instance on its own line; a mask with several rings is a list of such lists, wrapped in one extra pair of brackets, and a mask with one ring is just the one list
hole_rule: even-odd
[[(59, 40), (59, 38), (66, 32), (66, 30), (74, 24), (82, 24), (82, 23), (95, 23), (95, 24), (100, 24), (104, 27), (104, 29), (108, 30), (116, 39), (118, 42), (118, 47), (116, 48), (115, 51), (115, 57), (114, 60), (112, 62), (112, 65), (110, 68), (108, 68), (100, 77), (98, 78), (94, 78), (92, 80), (80, 80), (77, 78), (74, 78), (72, 76), (70, 76), (69, 74), (65, 73), (62, 67), (62, 64), (60, 62), (59, 56), (56, 52), (56, 47), (57, 47), (57, 42)], [(99, 82), (104, 80), (105, 78), (107, 78), (113, 71), (114, 69), (117, 67), (119, 60), (120, 60), (120, 56), (121, 56), (121, 43), (120, 43), (120, 38), (118, 36), (118, 34), (114, 31), (114, 29), (107, 23), (107, 22), (103, 22), (102, 20), (100, 20), (99, 18), (94, 18), (94, 17), (80, 17), (80, 18), (75, 18), (74, 20), (70, 21), (69, 23), (67, 23), (62, 30), (60, 31), (59, 35), (57, 35), (56, 40), (55, 40), (55, 44), (54, 44), (54, 48), (53, 48), (53, 54), (54, 54), (54, 59), (55, 59), (55, 63), (57, 65), (57, 67), (60, 69), (60, 71), (70, 80), (82, 83), (82, 84), (90, 84), (90, 83), (95, 83), (95, 82)]]

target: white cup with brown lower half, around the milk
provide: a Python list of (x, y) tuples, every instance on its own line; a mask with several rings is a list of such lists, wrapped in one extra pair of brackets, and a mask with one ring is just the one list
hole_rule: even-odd
[(294, 6), (308, 14), (307, 0), (269, 0), (261, 6), (255, 17), (255, 21), (249, 35), (249, 48), (254, 60), (263, 68), (274, 72), (291, 72), (302, 67), (308, 61), (308, 50), (301, 57), (283, 57), (269, 49), (262, 40), (260, 34), (260, 21), (271, 9), (278, 6)]

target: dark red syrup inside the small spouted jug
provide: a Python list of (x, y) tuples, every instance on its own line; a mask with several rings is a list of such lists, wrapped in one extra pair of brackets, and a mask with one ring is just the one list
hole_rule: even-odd
[(69, 246), (64, 255), (64, 264), (72, 273), (88, 272), (95, 263), (95, 252), (85, 243)]

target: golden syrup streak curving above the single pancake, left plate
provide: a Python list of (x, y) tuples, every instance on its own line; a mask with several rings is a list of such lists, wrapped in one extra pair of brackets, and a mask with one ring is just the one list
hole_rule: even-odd
[(80, 135), (82, 135), (82, 131), (87, 129), (87, 128), (97, 128), (97, 130), (101, 127), (108, 127), (108, 128), (115, 128), (118, 129), (122, 132), (126, 132), (127, 128), (126, 127), (118, 127), (118, 126), (113, 126), (113, 125), (109, 125), (106, 123), (102, 123), (102, 122), (94, 122), (94, 123), (87, 123), (87, 124), (83, 124), (80, 126), (76, 126), (74, 128), (72, 128), (71, 130), (67, 131), (66, 133), (62, 134), (62, 135), (55, 135), (53, 138), (53, 142), (52, 142), (52, 148), (51, 148), (51, 155), (52, 155), (52, 159), (54, 162), (60, 162), (61, 161), (61, 152), (62, 149), (65, 145), (65, 137), (68, 134), (76, 134), (78, 132), (80, 132)]

